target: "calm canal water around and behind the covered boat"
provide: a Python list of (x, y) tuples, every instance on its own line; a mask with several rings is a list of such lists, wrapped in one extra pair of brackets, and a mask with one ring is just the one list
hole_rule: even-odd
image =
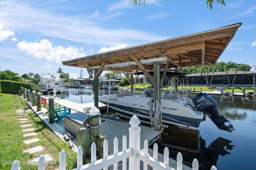
[[(111, 90), (110, 93), (115, 92)], [(108, 90), (99, 91), (99, 95), (104, 94), (108, 94)], [(168, 147), (170, 157), (175, 160), (176, 154), (181, 152), (183, 163), (190, 167), (197, 158), (200, 170), (210, 170), (212, 165), (218, 170), (256, 170), (256, 98), (210, 96), (216, 100), (219, 113), (230, 120), (235, 131), (219, 130), (206, 117), (198, 131), (176, 127), (166, 129), (161, 143), (158, 143), (160, 152)], [(93, 102), (93, 97), (91, 89), (83, 88), (70, 88), (64, 94), (66, 100), (77, 103)]]

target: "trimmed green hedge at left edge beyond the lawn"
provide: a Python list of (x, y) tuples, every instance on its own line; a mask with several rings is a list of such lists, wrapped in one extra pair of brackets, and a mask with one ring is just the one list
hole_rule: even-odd
[(29, 89), (30, 92), (32, 92), (33, 90), (35, 90), (36, 92), (42, 92), (40, 87), (33, 83), (16, 82), (11, 80), (0, 80), (0, 90), (2, 90), (2, 93), (18, 94), (19, 89), (21, 87), (23, 87), (24, 89), (25, 88)]

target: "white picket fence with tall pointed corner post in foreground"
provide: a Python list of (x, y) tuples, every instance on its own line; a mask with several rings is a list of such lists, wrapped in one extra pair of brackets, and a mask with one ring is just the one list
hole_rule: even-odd
[[(164, 149), (164, 162), (158, 161), (158, 145), (155, 143), (153, 148), (153, 157), (148, 154), (148, 141), (144, 141), (144, 149), (140, 150), (140, 120), (136, 115), (134, 115), (129, 124), (129, 149), (127, 149), (127, 138), (124, 135), (122, 139), (122, 151), (118, 152), (118, 139), (114, 139), (114, 154), (108, 156), (108, 141), (105, 140), (103, 143), (103, 158), (96, 160), (96, 145), (92, 143), (91, 145), (91, 163), (82, 165), (83, 162), (83, 150), (82, 147), (77, 149), (77, 168), (73, 170), (108, 170), (108, 166), (113, 165), (113, 170), (118, 170), (118, 162), (122, 161), (122, 170), (127, 169), (127, 158), (128, 169), (130, 170), (140, 170), (140, 161), (143, 162), (143, 170), (148, 169), (148, 165), (153, 168), (153, 170), (175, 170), (169, 166), (169, 149), (166, 147)], [(62, 150), (60, 152), (60, 170), (66, 170), (66, 152)], [(41, 155), (38, 159), (38, 170), (45, 170), (45, 158)], [(192, 162), (192, 170), (198, 170), (198, 160), (194, 159)], [(12, 170), (20, 170), (20, 165), (18, 161), (14, 161), (12, 164)], [(179, 152), (177, 154), (177, 167), (176, 170), (182, 170), (182, 154)], [(217, 170), (215, 166), (212, 166), (211, 170)]]

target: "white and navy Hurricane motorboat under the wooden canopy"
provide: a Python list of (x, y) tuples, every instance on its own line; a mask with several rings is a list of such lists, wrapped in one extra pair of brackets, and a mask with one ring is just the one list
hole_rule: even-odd
[[(182, 74), (175, 73), (175, 78)], [(228, 120), (219, 114), (216, 107), (216, 101), (206, 93), (199, 93), (193, 99), (182, 96), (177, 88), (174, 93), (160, 94), (160, 102), (154, 98), (154, 93), (146, 89), (142, 93), (117, 93), (108, 94), (99, 97), (99, 101), (108, 105), (112, 112), (117, 115), (130, 118), (136, 115), (141, 122), (152, 125), (155, 117), (160, 117), (162, 124), (176, 125), (188, 129), (198, 129), (205, 115), (219, 129), (230, 131), (232, 125), (225, 125)], [(155, 121), (153, 123), (156, 123)], [(153, 127), (153, 126), (152, 126)]]

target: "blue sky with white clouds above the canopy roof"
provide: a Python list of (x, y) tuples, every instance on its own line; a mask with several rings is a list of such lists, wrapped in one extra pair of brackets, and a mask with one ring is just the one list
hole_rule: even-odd
[[(225, 0), (0, 0), (0, 71), (72, 78), (80, 68), (61, 61), (152, 43), (242, 22), (217, 62), (256, 65), (256, 1)], [(88, 77), (85, 68), (84, 78)], [(253, 71), (253, 68), (251, 69)], [(102, 76), (104, 72), (102, 73)]]

